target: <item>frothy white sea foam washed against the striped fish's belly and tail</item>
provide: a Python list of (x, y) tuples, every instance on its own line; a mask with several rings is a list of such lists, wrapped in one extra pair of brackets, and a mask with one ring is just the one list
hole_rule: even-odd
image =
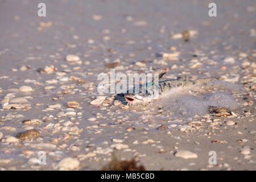
[[(217, 90), (225, 90), (226, 92), (213, 92), (205, 93), (206, 90), (213, 88)], [(192, 92), (188, 92), (191, 90)], [(195, 90), (197, 90), (195, 92)], [(237, 109), (240, 104), (235, 98), (229, 94), (232, 92), (238, 92), (243, 90), (239, 85), (225, 82), (225, 81), (212, 81), (204, 87), (192, 86), (187, 88), (176, 88), (172, 89), (171, 92), (164, 95), (160, 100), (152, 101), (147, 104), (144, 109), (147, 110), (147, 114), (142, 111), (143, 109), (135, 109), (136, 112), (142, 111), (145, 114), (145, 118), (140, 118), (140, 114), (136, 115), (133, 113), (135, 121), (179, 121), (177, 124), (182, 125), (191, 121), (192, 118), (200, 117), (204, 114), (209, 114), (208, 106), (220, 106), (226, 107), (230, 110)], [(204, 92), (201, 92), (204, 91)], [(142, 109), (142, 110), (141, 110)], [(161, 111), (160, 114), (159, 110)], [(136, 115), (136, 116), (135, 116)], [(180, 123), (181, 122), (181, 123)], [(170, 122), (173, 124), (173, 122)]]

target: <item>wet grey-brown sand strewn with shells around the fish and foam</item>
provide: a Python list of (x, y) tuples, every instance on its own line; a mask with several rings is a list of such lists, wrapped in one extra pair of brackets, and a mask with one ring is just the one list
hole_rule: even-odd
[[(210, 1), (44, 1), (46, 17), (38, 17), (40, 2), (0, 2), (0, 169), (99, 170), (112, 152), (148, 170), (256, 169), (255, 1), (218, 2), (217, 17), (208, 16)], [(67, 61), (70, 54), (80, 60)], [(114, 94), (90, 104), (100, 96), (98, 74), (115, 62), (125, 74), (168, 69), (166, 78), (240, 85), (245, 90), (229, 93), (240, 103), (233, 110), (239, 117), (126, 110)], [(217, 91), (226, 92), (195, 94)], [(73, 101), (79, 106), (71, 109)], [(27, 140), (17, 135), (32, 129)]]

